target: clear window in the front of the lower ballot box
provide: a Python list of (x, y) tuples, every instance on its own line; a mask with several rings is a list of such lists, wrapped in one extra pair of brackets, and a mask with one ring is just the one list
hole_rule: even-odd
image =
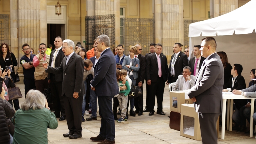
[(183, 116), (183, 134), (194, 136), (194, 118)]

